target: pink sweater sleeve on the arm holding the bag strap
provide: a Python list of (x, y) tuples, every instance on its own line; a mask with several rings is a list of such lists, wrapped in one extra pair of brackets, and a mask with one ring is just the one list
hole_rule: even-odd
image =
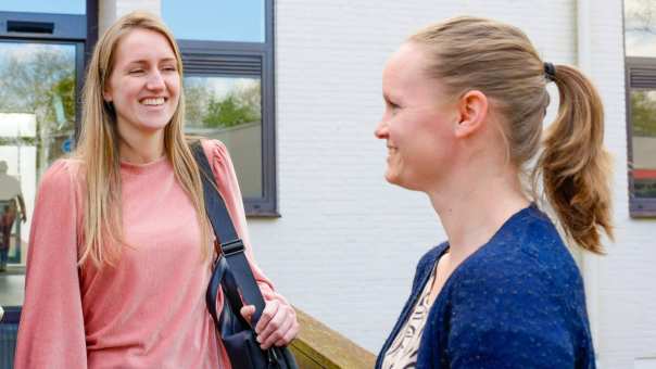
[(228, 150), (225, 144), (218, 140), (203, 141), (203, 149), (205, 150), (207, 157), (210, 157), (210, 164), (212, 165), (212, 170), (216, 178), (218, 191), (226, 203), (226, 207), (228, 208), (228, 213), (235, 225), (235, 230), (243, 241), (245, 255), (251, 264), (251, 269), (253, 270), (253, 276), (257, 281), (262, 296), (265, 301), (278, 300), (281, 303), (289, 305), (287, 300), (275, 291), (274, 284), (260, 269), (253, 257), (241, 190), (237, 182), (237, 174), (235, 173), (232, 160), (230, 158)]

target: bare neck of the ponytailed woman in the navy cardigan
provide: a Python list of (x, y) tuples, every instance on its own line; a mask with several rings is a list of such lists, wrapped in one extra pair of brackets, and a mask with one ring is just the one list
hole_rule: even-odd
[[(461, 263), (529, 201), (514, 170), (451, 178), (446, 189), (427, 191), (449, 238), (451, 258)], [(471, 180), (471, 178), (476, 178)]]

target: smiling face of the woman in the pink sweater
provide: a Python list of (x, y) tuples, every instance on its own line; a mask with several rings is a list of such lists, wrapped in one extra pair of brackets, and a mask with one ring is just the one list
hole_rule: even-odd
[(114, 105), (123, 138), (163, 132), (180, 97), (176, 55), (166, 37), (140, 28), (125, 35), (103, 97)]

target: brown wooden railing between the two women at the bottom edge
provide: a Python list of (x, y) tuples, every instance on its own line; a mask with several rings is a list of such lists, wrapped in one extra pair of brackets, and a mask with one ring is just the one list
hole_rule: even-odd
[(301, 325), (291, 351), (300, 369), (370, 369), (376, 356), (297, 308)]

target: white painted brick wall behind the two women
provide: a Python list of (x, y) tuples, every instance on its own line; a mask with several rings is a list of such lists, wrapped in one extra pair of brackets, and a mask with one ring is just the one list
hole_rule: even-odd
[[(159, 1), (106, 1), (111, 14), (101, 0), (101, 22), (160, 9)], [(621, 0), (591, 2), (589, 73), (606, 106), (617, 228), (607, 256), (585, 257), (585, 278), (598, 367), (623, 369), (656, 357), (656, 221), (628, 214)], [(545, 60), (578, 61), (575, 0), (276, 1), (282, 217), (249, 220), (255, 255), (293, 304), (373, 352), (409, 293), (417, 259), (444, 240), (425, 195), (382, 178), (386, 149), (373, 135), (382, 66), (413, 30), (459, 14), (509, 22)]]

